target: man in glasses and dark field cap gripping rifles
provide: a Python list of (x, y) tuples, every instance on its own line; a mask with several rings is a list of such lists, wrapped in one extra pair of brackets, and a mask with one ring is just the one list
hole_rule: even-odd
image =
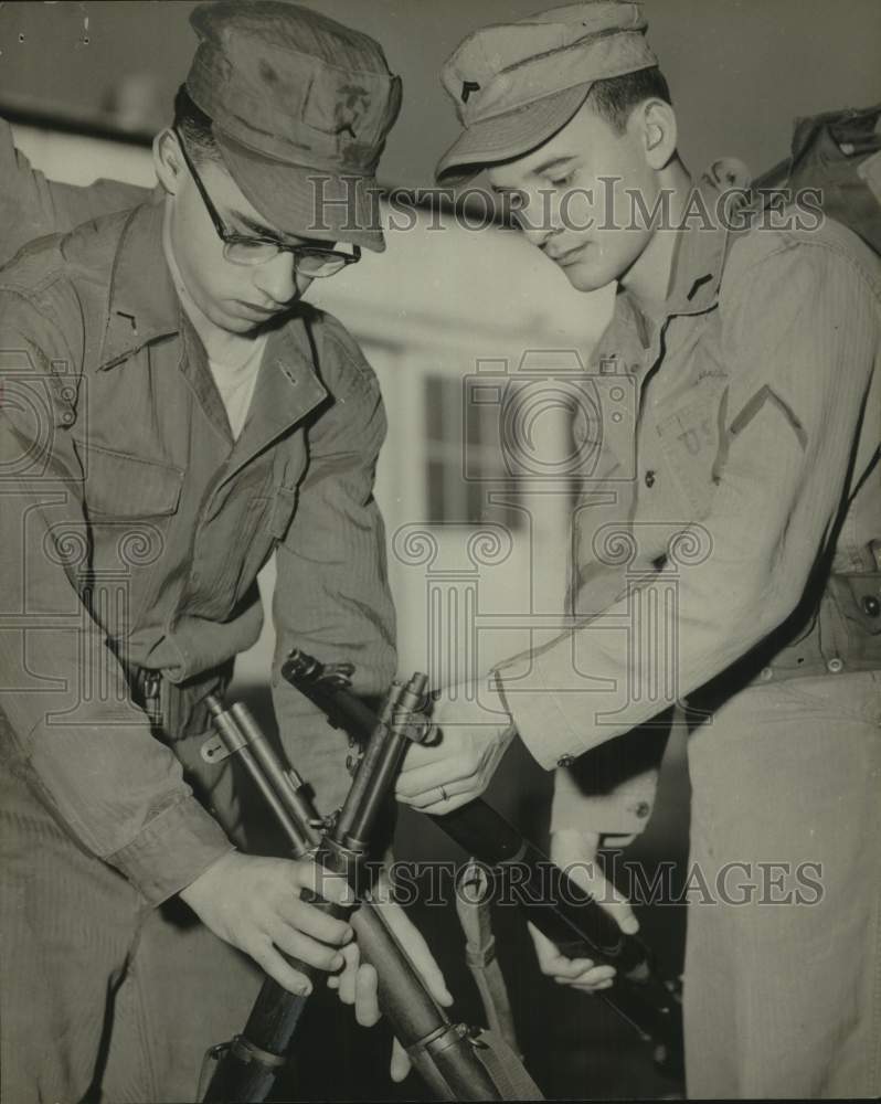
[[(341, 889), (236, 850), (229, 763), (200, 749), (205, 699), (259, 635), (273, 552), (275, 711), (320, 806), (347, 788), (346, 741), (280, 661), (352, 658), (362, 693), (395, 670), (382, 399), (305, 296), (383, 247), (370, 193), (401, 85), (376, 42), (295, 4), (203, 4), (192, 23), (155, 194), (53, 188), (3, 150), (3, 258), (57, 232), (0, 275), (0, 588), (33, 611), (0, 634), (10, 1104), (195, 1100), (205, 1049), (244, 1027), (254, 963), (308, 988), (284, 955), (346, 963), (341, 995), (376, 1016), (348, 924), (300, 895)], [(312, 178), (353, 210), (317, 222)]]

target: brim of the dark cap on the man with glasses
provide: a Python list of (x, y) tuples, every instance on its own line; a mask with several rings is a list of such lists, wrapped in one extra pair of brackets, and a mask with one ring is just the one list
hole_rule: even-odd
[(223, 162), (248, 203), (285, 234), (385, 248), (375, 177), (289, 164), (214, 132)]

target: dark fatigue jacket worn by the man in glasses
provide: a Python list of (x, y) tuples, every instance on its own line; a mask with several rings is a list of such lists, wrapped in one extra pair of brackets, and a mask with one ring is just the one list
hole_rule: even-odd
[[(73, 197), (15, 171), (31, 215), (34, 199)], [(204, 698), (257, 638), (255, 576), (274, 550), (283, 733), (329, 731), (277, 677), (291, 647), (354, 660), (364, 692), (394, 670), (373, 372), (302, 305), (269, 335), (233, 442), (161, 225), (148, 202), (0, 273), (3, 758), (153, 902), (231, 846), (157, 734), (199, 773)]]

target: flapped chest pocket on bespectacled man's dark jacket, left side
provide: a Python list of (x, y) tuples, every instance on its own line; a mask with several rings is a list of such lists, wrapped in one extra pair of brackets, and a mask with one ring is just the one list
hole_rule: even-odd
[(83, 442), (75, 440), (74, 446), (83, 465), (89, 520), (158, 518), (178, 509), (184, 478), (182, 468)]

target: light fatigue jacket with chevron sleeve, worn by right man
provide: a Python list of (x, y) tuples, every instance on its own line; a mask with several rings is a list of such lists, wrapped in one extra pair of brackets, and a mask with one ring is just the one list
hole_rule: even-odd
[[(572, 622), (499, 678), (543, 766), (628, 733), (636, 772), (613, 764), (593, 807), (564, 774), (555, 827), (640, 830), (641, 768), (662, 750), (640, 725), (722, 672), (881, 666), (881, 265), (831, 221), (778, 226), (688, 222), (664, 317), (618, 294), (598, 343), (606, 421), (574, 522)], [(853, 593), (827, 617), (830, 573)]]

